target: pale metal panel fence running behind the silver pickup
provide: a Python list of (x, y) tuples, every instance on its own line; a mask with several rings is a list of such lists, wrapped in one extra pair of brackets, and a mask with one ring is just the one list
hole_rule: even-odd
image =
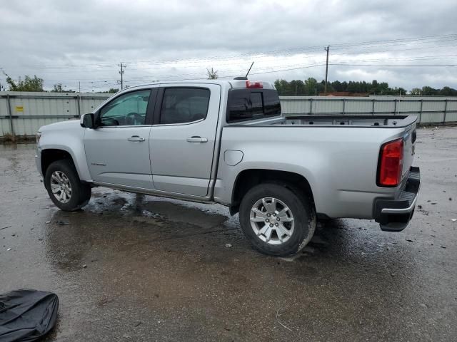
[[(112, 94), (0, 92), (0, 138), (31, 137), (42, 125), (79, 118)], [(421, 124), (457, 123), (457, 98), (281, 96), (287, 115), (417, 115)]]

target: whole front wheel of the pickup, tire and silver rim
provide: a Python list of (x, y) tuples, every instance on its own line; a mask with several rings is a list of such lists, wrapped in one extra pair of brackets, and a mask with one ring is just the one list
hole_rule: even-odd
[(46, 169), (44, 182), (52, 202), (66, 212), (84, 207), (91, 199), (91, 187), (81, 183), (69, 160), (52, 162)]

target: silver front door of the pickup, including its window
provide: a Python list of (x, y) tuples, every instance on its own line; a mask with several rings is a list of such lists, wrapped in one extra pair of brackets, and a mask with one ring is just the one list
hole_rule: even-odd
[(97, 128), (86, 128), (84, 148), (96, 183), (154, 189), (149, 131), (157, 88), (123, 93), (96, 113)]

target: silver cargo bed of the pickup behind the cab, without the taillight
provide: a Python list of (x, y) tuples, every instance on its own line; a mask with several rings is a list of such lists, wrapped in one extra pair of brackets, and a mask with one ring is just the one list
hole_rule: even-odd
[[(318, 213), (371, 219), (373, 200), (393, 199), (406, 184), (416, 120), (415, 115), (303, 115), (226, 125), (218, 175), (232, 184), (237, 167), (295, 172), (308, 180)], [(403, 138), (402, 185), (378, 187), (381, 146), (398, 138)], [(240, 166), (226, 167), (226, 151), (241, 152)]]

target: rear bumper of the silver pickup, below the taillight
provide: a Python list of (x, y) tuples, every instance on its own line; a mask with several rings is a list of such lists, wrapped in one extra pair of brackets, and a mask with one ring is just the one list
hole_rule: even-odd
[(421, 171), (411, 167), (405, 187), (396, 199), (376, 199), (374, 219), (382, 230), (400, 232), (405, 229), (413, 217), (417, 195), (421, 187)]

